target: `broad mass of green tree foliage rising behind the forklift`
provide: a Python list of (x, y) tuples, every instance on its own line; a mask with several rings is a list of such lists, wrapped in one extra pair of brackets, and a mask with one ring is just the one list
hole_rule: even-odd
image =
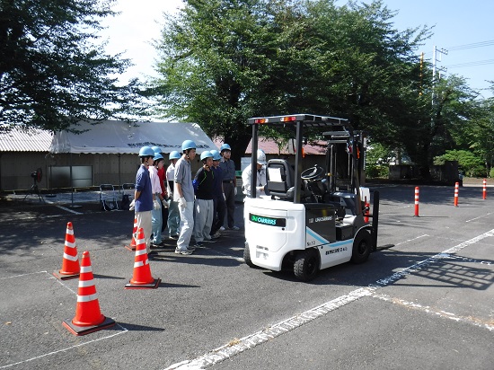
[(392, 18), (382, 1), (189, 0), (165, 18), (151, 93), (164, 117), (197, 121), (237, 155), (249, 117), (301, 111), (348, 117), (395, 144), (402, 118), (418, 119), (407, 104), (428, 29), (399, 32)]

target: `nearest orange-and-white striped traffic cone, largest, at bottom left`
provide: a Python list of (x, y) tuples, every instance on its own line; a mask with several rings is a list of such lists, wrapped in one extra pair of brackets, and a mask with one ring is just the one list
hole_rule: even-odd
[(115, 325), (112, 319), (101, 314), (96, 286), (93, 283), (93, 269), (91, 268), (89, 251), (83, 253), (75, 317), (72, 321), (66, 320), (62, 323), (74, 335), (89, 334)]

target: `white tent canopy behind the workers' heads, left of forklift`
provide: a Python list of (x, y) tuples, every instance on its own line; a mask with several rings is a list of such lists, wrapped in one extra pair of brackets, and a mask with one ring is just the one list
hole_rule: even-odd
[(74, 154), (138, 154), (142, 146), (159, 146), (163, 153), (181, 153), (181, 143), (192, 140), (198, 154), (217, 149), (197, 123), (125, 122), (106, 120), (98, 124), (80, 122), (75, 134), (58, 131), (53, 136), (50, 153)]

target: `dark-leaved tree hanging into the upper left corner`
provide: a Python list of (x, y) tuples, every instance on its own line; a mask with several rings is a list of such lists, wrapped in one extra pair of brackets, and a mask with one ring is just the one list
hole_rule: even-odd
[(129, 65), (96, 46), (114, 0), (0, 0), (0, 121), (49, 130), (122, 118), (138, 84), (118, 86)]

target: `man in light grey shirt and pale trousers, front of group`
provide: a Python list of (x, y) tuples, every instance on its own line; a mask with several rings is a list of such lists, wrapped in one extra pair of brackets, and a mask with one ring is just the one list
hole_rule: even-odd
[(181, 144), (181, 151), (181, 158), (177, 161), (173, 178), (175, 181), (173, 199), (178, 202), (181, 215), (181, 233), (175, 253), (192, 254), (195, 248), (189, 246), (189, 243), (194, 230), (194, 188), (190, 161), (196, 157), (196, 143), (185, 140)]

